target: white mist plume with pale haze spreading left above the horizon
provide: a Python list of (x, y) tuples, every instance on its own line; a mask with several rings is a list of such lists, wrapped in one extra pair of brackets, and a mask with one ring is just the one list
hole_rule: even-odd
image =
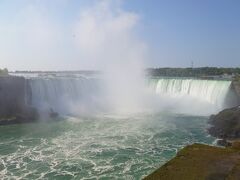
[(17, 12), (11, 22), (2, 23), (5, 30), (1, 34), (7, 34), (2, 42), (11, 42), (9, 46), (0, 42), (3, 66), (101, 70), (106, 105), (116, 111), (139, 110), (147, 49), (137, 33), (140, 16), (125, 11), (122, 1), (99, 0), (79, 7), (78, 14), (63, 27), (41, 3), (45, 1), (33, 2)]

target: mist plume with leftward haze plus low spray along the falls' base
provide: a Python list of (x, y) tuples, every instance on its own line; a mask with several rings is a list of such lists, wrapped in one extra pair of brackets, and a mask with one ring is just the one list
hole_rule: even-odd
[[(11, 26), (6, 26), (6, 32), (15, 32), (11, 38), (16, 47), (24, 49), (19, 52), (11, 47), (13, 51), (6, 51), (9, 56), (6, 59), (19, 59), (24, 67), (29, 65), (33, 70), (58, 70), (55, 68), (60, 67), (62, 70), (104, 72), (101, 97), (70, 104), (74, 112), (91, 114), (97, 106), (96, 109), (117, 113), (165, 109), (192, 113), (189, 106), (193, 108), (193, 104), (196, 106), (194, 112), (206, 111), (204, 103), (195, 103), (195, 99), (156, 96), (149, 92), (144, 75), (144, 68), (150, 61), (148, 45), (138, 34), (141, 17), (124, 10), (121, 1), (93, 1), (91, 6), (81, 7), (78, 16), (66, 28), (53, 21), (50, 13), (39, 4), (41, 2), (30, 3), (19, 12), (18, 19)], [(6, 33), (4, 38), (8, 39), (10, 35)], [(62, 102), (67, 102), (67, 97)]]

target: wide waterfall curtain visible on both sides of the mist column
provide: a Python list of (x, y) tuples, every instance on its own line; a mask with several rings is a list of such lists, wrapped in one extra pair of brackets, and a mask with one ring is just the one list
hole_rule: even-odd
[[(39, 111), (94, 114), (111, 108), (109, 94), (100, 77), (57, 75), (26, 78), (28, 104)], [(153, 93), (147, 96), (143, 94), (140, 98), (145, 98), (146, 103), (150, 102), (150, 109), (187, 110), (196, 114), (207, 111), (207, 114), (215, 113), (225, 108), (225, 99), (231, 86), (231, 81), (190, 78), (153, 78), (147, 82), (147, 87)]]

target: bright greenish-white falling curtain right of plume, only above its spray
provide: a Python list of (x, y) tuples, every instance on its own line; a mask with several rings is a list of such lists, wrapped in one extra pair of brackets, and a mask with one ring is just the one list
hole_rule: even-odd
[[(150, 80), (150, 87), (158, 95), (171, 98), (191, 97), (223, 108), (231, 81), (159, 78)], [(197, 102), (196, 102), (197, 103)]]

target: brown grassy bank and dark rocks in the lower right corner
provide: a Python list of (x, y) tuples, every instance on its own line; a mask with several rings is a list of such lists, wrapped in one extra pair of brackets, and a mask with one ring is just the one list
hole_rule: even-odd
[(208, 132), (218, 138), (214, 147), (193, 144), (147, 176), (146, 180), (239, 180), (240, 177), (240, 107), (225, 109), (210, 117)]

